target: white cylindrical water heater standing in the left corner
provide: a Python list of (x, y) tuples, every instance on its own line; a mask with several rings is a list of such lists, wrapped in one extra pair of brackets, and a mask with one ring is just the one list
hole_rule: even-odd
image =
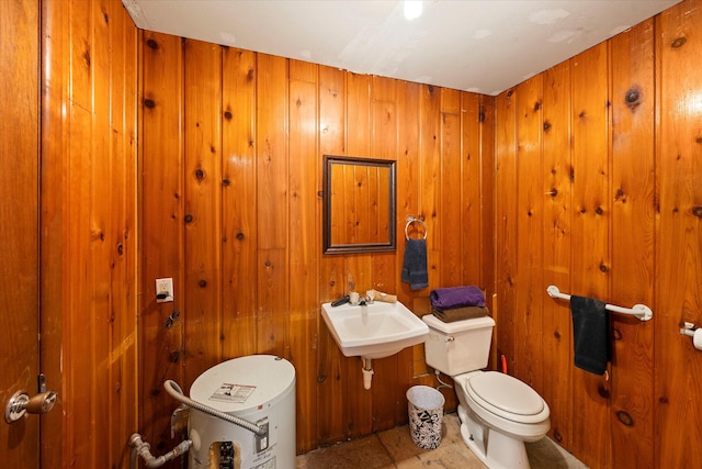
[(295, 368), (281, 357), (251, 355), (202, 373), (190, 399), (267, 429), (257, 435), (190, 409), (190, 469), (294, 469)]

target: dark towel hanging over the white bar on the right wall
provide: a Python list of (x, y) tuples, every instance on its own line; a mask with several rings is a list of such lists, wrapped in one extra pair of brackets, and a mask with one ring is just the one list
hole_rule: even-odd
[(595, 375), (607, 371), (610, 360), (610, 327), (605, 303), (570, 295), (575, 366)]

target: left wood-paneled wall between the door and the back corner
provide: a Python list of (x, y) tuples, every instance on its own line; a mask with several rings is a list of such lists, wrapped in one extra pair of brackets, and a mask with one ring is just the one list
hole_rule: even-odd
[(58, 391), (42, 416), (41, 467), (128, 467), (138, 404), (138, 33), (118, 1), (37, 4), (41, 371)]

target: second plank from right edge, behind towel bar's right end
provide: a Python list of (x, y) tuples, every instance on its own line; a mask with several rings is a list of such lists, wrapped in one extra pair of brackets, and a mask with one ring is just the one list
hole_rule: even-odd
[[(612, 298), (654, 304), (654, 22), (610, 42)], [(612, 466), (654, 468), (654, 323), (612, 315)], [(630, 421), (631, 420), (631, 421)]]

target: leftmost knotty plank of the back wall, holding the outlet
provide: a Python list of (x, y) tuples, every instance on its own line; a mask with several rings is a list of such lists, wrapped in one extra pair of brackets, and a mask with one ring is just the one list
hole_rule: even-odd
[[(154, 253), (141, 261), (141, 300), (139, 343), (151, 344), (148, 359), (139, 361), (139, 432), (156, 448), (167, 448), (170, 427), (157, 425), (158, 416), (172, 412), (172, 400), (163, 392), (163, 381), (183, 382), (184, 319), (171, 327), (166, 320), (173, 309), (183, 309), (185, 301), (183, 243), (185, 212), (183, 204), (183, 116), (184, 99), (183, 49), (179, 37), (161, 37), (144, 33), (141, 79), (152, 83), (141, 92), (140, 200), (143, 220), (141, 249)], [(169, 65), (170, 64), (170, 65)], [(177, 136), (173, 138), (173, 136)], [(156, 137), (158, 136), (158, 137)], [(148, 181), (148, 183), (146, 182)], [(173, 279), (174, 301), (156, 302), (155, 279)], [(150, 279), (151, 281), (146, 281)], [(144, 348), (140, 347), (141, 354)], [(146, 355), (141, 355), (146, 357)]]

